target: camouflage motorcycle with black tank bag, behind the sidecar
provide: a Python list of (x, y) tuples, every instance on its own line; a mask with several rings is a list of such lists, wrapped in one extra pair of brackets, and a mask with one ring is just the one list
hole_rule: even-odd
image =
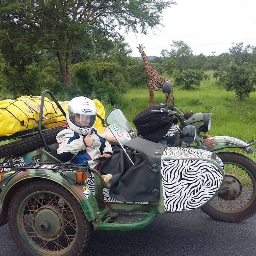
[[(170, 93), (171, 88), (171, 84), (165, 82), (163, 92)], [(256, 212), (256, 164), (247, 156), (228, 152), (227, 148), (241, 148), (251, 154), (256, 140), (244, 142), (230, 136), (206, 134), (211, 128), (211, 116), (212, 113), (194, 113), (192, 110), (184, 113), (173, 104), (167, 105), (166, 101), (140, 112), (133, 118), (133, 123), (138, 134), (147, 140), (181, 148), (218, 151), (217, 156), (225, 166), (222, 193), (201, 209), (217, 220), (245, 220)]]

